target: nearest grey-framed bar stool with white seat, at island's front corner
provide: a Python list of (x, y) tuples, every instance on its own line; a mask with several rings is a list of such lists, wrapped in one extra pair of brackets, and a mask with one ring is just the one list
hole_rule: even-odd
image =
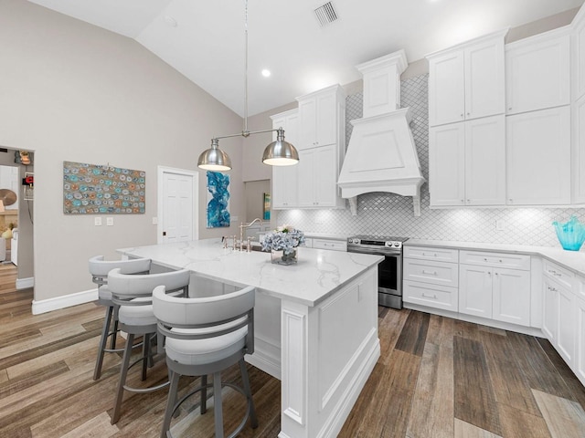
[[(165, 336), (166, 365), (171, 376), (162, 438), (172, 437), (171, 417), (197, 391), (201, 392), (201, 413), (206, 412), (207, 388), (211, 387), (217, 438), (224, 436), (221, 400), (224, 386), (239, 391), (248, 402), (246, 415), (229, 437), (236, 436), (249, 418), (251, 427), (258, 427), (244, 361), (245, 354), (254, 352), (254, 294), (254, 287), (245, 287), (216, 297), (182, 298), (167, 295), (165, 287), (154, 289), (154, 316), (159, 332)], [(221, 371), (238, 362), (243, 388), (221, 382)], [(207, 374), (213, 374), (213, 384), (207, 384)], [(176, 401), (181, 375), (201, 376), (201, 385)]]

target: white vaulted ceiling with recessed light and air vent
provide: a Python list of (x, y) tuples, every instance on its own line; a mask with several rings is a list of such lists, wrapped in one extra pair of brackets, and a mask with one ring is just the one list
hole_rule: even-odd
[[(135, 39), (244, 114), (247, 0), (29, 0)], [(404, 48), (409, 62), (474, 36), (521, 26), (584, 0), (248, 0), (248, 113), (360, 78), (355, 66)], [(261, 70), (271, 70), (264, 78)]]

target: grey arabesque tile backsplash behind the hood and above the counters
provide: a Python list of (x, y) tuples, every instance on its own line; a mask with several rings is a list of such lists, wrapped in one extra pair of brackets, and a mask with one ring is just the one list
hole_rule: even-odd
[[(401, 106), (410, 107), (410, 129), (417, 145), (420, 168), (429, 179), (429, 75), (408, 78), (401, 83)], [(350, 120), (360, 119), (363, 96), (346, 98), (346, 141), (353, 129)], [(276, 224), (294, 224), (314, 233), (337, 235), (399, 235), (418, 239), (455, 240), (514, 245), (560, 247), (553, 221), (566, 222), (571, 214), (585, 222), (585, 208), (429, 208), (429, 185), (420, 191), (421, 214), (415, 217), (412, 199), (392, 193), (367, 193), (357, 197), (357, 215), (346, 210), (274, 211)], [(497, 231), (495, 223), (504, 221)]]

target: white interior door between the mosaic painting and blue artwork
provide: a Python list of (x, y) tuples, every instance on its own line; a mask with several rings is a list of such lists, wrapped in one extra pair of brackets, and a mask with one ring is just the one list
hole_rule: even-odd
[(197, 182), (197, 172), (159, 166), (157, 243), (197, 240)]

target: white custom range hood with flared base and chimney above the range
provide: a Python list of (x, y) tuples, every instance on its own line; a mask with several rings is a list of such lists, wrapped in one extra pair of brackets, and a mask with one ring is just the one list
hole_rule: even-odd
[(400, 74), (408, 63), (404, 50), (378, 57), (356, 68), (364, 77), (364, 114), (351, 120), (354, 130), (337, 185), (357, 214), (358, 194), (372, 192), (411, 196), (420, 216), (420, 172), (410, 109), (400, 109)]

